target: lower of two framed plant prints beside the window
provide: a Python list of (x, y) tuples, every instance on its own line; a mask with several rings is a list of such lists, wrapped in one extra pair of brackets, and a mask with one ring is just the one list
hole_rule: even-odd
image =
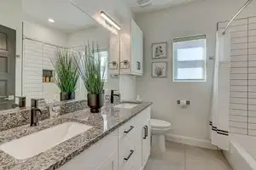
[(151, 65), (152, 78), (166, 78), (167, 77), (167, 61), (154, 61)]

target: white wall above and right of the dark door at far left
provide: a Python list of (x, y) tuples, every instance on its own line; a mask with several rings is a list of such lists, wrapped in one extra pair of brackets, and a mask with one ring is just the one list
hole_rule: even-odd
[[(22, 42), (22, 1), (0, 0), (0, 25), (16, 30), (16, 55), (21, 56)], [(21, 94), (21, 57), (16, 58), (15, 92)]]

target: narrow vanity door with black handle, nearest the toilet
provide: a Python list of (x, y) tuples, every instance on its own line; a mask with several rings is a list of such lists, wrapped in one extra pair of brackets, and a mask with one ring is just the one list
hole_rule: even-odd
[(150, 126), (149, 120), (143, 127), (143, 167), (145, 167), (150, 155)]

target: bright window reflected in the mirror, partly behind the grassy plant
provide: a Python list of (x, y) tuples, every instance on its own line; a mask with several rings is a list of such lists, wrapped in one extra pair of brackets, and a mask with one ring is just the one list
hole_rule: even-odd
[[(95, 52), (95, 56), (101, 57), (101, 76), (103, 81), (108, 81), (108, 51), (106, 49), (99, 50), (99, 54)], [(105, 72), (105, 73), (104, 73)], [(104, 75), (103, 75), (104, 74)]]

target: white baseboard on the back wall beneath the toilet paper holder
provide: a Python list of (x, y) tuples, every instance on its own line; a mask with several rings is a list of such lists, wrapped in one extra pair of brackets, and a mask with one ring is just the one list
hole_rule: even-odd
[(167, 134), (166, 135), (166, 140), (176, 142), (176, 143), (181, 143), (181, 144), (188, 144), (192, 146), (197, 146), (201, 148), (207, 148), (211, 150), (217, 150), (218, 148), (214, 145), (211, 144), (210, 140), (205, 140), (205, 139), (195, 139), (191, 137), (185, 137), (185, 136), (180, 136), (180, 135), (175, 135), (175, 134)]

